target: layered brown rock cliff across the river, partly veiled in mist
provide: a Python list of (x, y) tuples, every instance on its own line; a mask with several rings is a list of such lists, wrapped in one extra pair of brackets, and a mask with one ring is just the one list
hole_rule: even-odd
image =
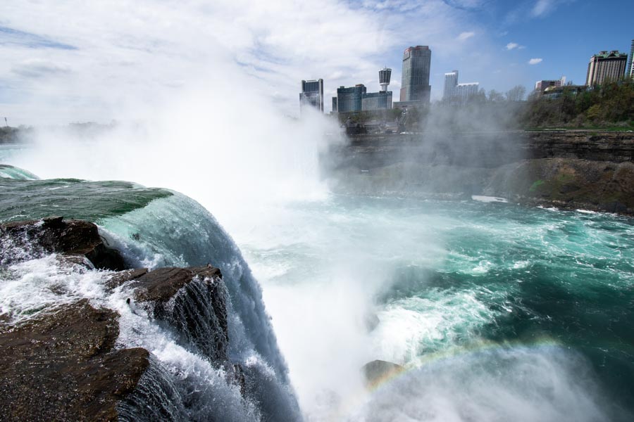
[(334, 191), (501, 196), (634, 215), (634, 133), (544, 131), (352, 136), (323, 162)]

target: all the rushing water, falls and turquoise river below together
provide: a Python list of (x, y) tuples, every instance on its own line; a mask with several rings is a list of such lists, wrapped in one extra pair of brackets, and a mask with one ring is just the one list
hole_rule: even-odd
[(121, 420), (631, 418), (628, 217), (487, 198), (285, 204), (230, 226), (262, 294), (225, 230), (180, 193), (4, 171), (2, 222), (85, 219), (128, 267), (223, 275), (148, 306), (133, 295), (143, 274), (113, 284), (113, 271), (3, 243), (1, 325), (87, 300), (119, 315), (116, 348), (149, 351)]

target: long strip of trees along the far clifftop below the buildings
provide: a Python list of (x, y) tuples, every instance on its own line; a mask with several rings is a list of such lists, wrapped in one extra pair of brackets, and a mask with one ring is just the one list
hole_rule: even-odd
[(505, 93), (480, 89), (469, 98), (437, 101), (424, 108), (381, 110), (337, 115), (365, 124), (371, 120), (397, 120), (413, 132), (487, 131), (535, 128), (634, 129), (634, 81), (626, 79), (601, 86), (566, 86), (556, 95), (533, 92), (524, 101), (526, 89), (514, 87)]

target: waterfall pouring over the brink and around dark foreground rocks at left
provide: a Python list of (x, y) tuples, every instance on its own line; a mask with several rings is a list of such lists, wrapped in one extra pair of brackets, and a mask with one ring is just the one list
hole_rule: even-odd
[[(17, 178), (16, 178), (17, 179)], [(15, 250), (24, 245), (3, 244), (6, 262), (0, 283), (1, 314), (17, 324), (58, 307), (88, 298), (93, 305), (120, 314), (121, 347), (151, 352), (151, 370), (141, 388), (120, 404), (123, 419), (154, 417), (194, 421), (297, 421), (299, 409), (287, 378), (258, 283), (240, 251), (215, 219), (195, 201), (167, 191), (120, 182), (77, 180), (16, 181), (0, 179), (0, 216), (4, 221), (35, 219), (55, 212), (67, 218), (97, 222), (106, 241), (121, 250), (133, 266), (204, 266), (223, 273), (220, 286), (228, 292), (228, 354), (244, 371), (241, 387), (231, 382), (233, 368), (214, 365), (217, 319), (204, 300), (201, 281), (192, 282), (170, 304), (176, 323), (194, 315), (196, 332), (178, 333), (159, 324), (151, 312), (126, 303), (128, 288), (113, 291), (104, 284), (110, 271), (87, 270), (41, 250)], [(37, 195), (46, 207), (22, 205), (16, 198)], [(95, 203), (93, 197), (99, 195)], [(191, 291), (190, 291), (191, 290)], [(209, 298), (208, 298), (209, 299)], [(222, 317), (221, 317), (222, 318)], [(226, 318), (226, 316), (225, 316)], [(195, 339), (194, 339), (195, 338)], [(194, 341), (195, 340), (195, 341)], [(228, 381), (229, 380), (229, 381)], [(148, 410), (146, 410), (148, 409)]]

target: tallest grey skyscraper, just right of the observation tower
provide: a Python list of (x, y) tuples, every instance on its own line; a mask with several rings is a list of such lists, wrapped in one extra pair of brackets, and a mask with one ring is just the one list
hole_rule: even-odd
[(429, 103), (431, 50), (428, 46), (408, 47), (403, 53), (401, 101)]

